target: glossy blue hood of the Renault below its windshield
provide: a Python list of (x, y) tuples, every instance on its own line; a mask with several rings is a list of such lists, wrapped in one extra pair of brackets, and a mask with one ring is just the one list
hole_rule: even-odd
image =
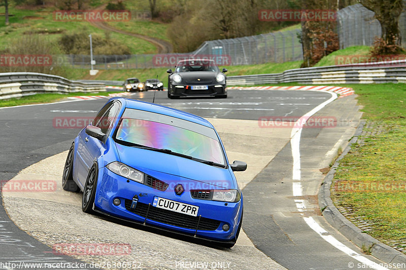
[[(153, 174), (155, 171), (224, 188), (236, 188), (228, 169), (210, 166), (167, 153), (124, 146), (118, 143), (116, 143), (116, 146), (122, 163), (147, 174)], [(158, 175), (152, 176), (159, 179)], [(163, 179), (161, 178), (161, 180)]]

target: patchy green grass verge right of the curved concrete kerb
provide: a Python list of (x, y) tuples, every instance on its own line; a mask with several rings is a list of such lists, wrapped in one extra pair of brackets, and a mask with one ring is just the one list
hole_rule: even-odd
[[(406, 247), (406, 85), (349, 85), (359, 95), (364, 136), (340, 161), (332, 199), (351, 209), (352, 220), (367, 221), (365, 233)], [(380, 130), (379, 132), (377, 132)], [(369, 133), (369, 134), (368, 134)], [(362, 226), (361, 226), (362, 228)], [(397, 241), (400, 244), (393, 244)]]

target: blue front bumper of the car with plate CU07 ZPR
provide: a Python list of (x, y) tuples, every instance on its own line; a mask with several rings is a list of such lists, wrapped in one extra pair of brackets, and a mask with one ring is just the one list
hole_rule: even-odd
[[(243, 199), (237, 203), (193, 199), (187, 185), (184, 189), (183, 194), (178, 196), (171, 185), (165, 191), (160, 191), (128, 180), (103, 167), (98, 173), (94, 205), (101, 212), (130, 221), (146, 222), (148, 225), (192, 236), (196, 234), (197, 237), (215, 241), (234, 240), (240, 225)], [(130, 206), (134, 196), (138, 197), (138, 202), (132, 210)], [(155, 196), (198, 206), (197, 217), (154, 207)], [(116, 198), (121, 201), (118, 206), (113, 204)], [(226, 232), (222, 229), (224, 224), (229, 225)]]

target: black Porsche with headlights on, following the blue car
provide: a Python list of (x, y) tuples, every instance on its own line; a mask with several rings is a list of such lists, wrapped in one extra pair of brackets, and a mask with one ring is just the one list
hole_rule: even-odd
[(168, 98), (182, 96), (227, 97), (227, 84), (223, 68), (220, 72), (214, 60), (189, 59), (179, 61), (175, 67), (166, 70), (168, 76)]

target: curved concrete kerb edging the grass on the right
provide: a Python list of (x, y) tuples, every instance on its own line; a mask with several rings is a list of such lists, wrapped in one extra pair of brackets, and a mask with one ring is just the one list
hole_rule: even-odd
[(339, 166), (339, 162), (343, 159), (349, 150), (351, 145), (358, 140), (358, 136), (361, 134), (362, 129), (365, 125), (365, 121), (362, 120), (353, 138), (350, 140), (349, 144), (340, 155), (340, 157), (335, 161), (330, 171), (324, 178), (321, 184), (318, 199), (319, 207), (324, 218), (330, 223), (331, 226), (339, 230), (347, 239), (353, 242), (356, 246), (361, 248), (363, 251), (370, 252), (374, 257), (384, 261), (385, 263), (404, 263), (406, 264), (406, 255), (400, 251), (389, 247), (378, 241), (377, 239), (362, 233), (361, 229), (355, 226), (351, 221), (349, 221), (333, 204), (330, 196), (330, 187), (332, 184), (332, 179), (335, 174), (335, 169)]

